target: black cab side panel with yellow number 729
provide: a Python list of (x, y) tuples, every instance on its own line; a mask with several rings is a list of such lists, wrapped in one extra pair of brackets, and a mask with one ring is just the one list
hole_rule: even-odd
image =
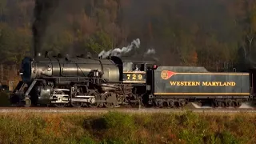
[(146, 72), (124, 71), (122, 78), (125, 83), (146, 83)]

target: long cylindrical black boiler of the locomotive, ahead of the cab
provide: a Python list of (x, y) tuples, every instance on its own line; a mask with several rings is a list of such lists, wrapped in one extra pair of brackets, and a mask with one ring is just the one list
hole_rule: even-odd
[(101, 72), (110, 82), (119, 81), (119, 69), (110, 59), (26, 57), (20, 74), (25, 83), (35, 78), (73, 77), (87, 78), (92, 70)]

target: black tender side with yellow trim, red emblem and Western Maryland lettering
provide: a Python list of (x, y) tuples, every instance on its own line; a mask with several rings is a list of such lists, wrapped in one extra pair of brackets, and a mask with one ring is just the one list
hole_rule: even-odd
[(250, 95), (248, 73), (154, 71), (155, 95)]

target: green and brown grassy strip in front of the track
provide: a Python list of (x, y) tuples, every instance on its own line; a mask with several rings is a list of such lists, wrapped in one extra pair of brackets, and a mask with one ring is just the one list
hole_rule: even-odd
[(1, 114), (0, 143), (255, 143), (254, 114)]

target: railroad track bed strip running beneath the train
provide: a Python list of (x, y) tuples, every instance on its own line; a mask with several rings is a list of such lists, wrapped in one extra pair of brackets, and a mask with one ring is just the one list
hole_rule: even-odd
[(187, 110), (196, 113), (256, 113), (255, 108), (192, 108), (192, 109), (156, 109), (156, 108), (56, 108), (56, 107), (0, 107), (0, 113), (95, 113), (102, 114), (110, 111), (124, 113), (173, 113), (186, 112)]

